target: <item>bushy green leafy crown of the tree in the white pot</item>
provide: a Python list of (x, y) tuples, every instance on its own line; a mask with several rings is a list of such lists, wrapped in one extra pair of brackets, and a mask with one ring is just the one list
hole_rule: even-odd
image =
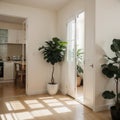
[(45, 46), (39, 48), (44, 55), (46, 62), (54, 65), (64, 59), (66, 52), (67, 42), (61, 41), (59, 38), (54, 37), (50, 41), (45, 42)]

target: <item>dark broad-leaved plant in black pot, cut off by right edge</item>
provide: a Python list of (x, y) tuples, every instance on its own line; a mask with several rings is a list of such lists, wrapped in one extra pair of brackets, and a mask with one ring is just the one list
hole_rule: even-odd
[(102, 65), (102, 73), (115, 81), (116, 89), (115, 92), (106, 90), (102, 93), (102, 96), (105, 99), (115, 99), (115, 105), (110, 108), (111, 116), (112, 120), (120, 120), (120, 39), (113, 39), (111, 50), (115, 53), (115, 57), (105, 55), (108, 62)]

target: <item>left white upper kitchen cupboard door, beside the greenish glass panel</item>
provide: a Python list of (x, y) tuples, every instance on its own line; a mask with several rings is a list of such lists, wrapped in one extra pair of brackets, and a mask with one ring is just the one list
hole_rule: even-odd
[(9, 29), (8, 30), (8, 43), (17, 43), (17, 30)]

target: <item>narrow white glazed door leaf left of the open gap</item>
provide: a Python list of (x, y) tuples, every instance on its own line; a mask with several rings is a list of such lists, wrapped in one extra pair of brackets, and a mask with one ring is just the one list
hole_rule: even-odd
[(67, 24), (67, 94), (76, 97), (75, 20)]

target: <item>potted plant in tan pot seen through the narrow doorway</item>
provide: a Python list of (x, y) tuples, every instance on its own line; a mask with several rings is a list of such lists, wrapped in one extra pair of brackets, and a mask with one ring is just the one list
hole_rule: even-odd
[(77, 50), (77, 87), (80, 86), (81, 81), (83, 80), (83, 68), (82, 66), (82, 62), (83, 62), (83, 52), (82, 49), (78, 49)]

